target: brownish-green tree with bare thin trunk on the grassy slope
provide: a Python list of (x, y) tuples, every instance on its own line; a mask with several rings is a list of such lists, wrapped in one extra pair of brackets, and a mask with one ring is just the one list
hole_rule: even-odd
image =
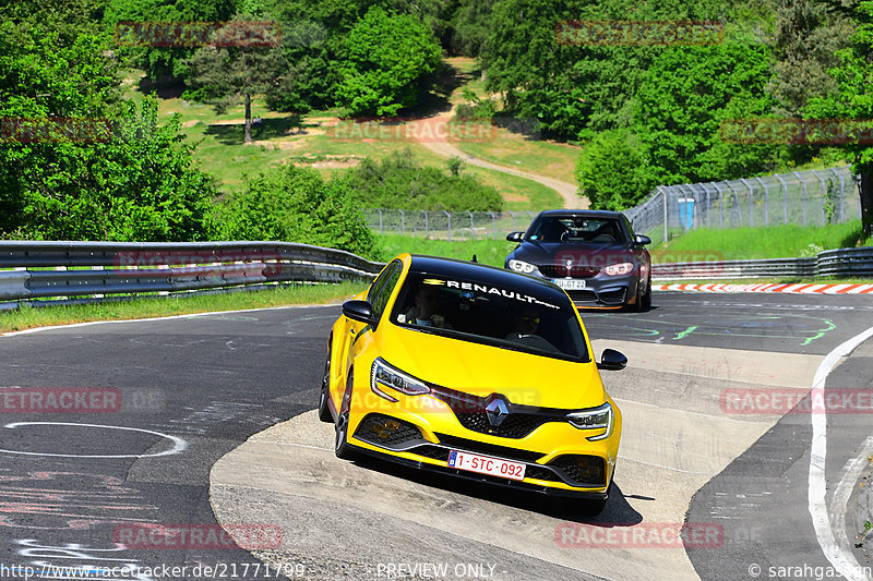
[[(229, 29), (244, 27), (252, 21), (237, 16), (227, 24)], [(231, 33), (216, 31), (216, 35)], [(243, 142), (252, 141), (252, 97), (267, 93), (283, 83), (290, 71), (285, 52), (276, 46), (237, 46), (218, 48), (206, 46), (198, 49), (186, 61), (188, 83), (202, 92), (202, 100), (210, 102), (216, 111), (224, 112), (240, 100), (246, 106), (246, 132)]]

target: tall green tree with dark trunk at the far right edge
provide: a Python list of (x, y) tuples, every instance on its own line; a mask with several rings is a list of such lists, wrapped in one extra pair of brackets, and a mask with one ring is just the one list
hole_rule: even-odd
[[(857, 129), (848, 133), (842, 148), (852, 160), (852, 171), (860, 174), (861, 241), (873, 235), (873, 2), (852, 5), (851, 21), (856, 31), (848, 48), (837, 52), (840, 65), (830, 71), (837, 82), (832, 96), (813, 98), (804, 113), (812, 119), (857, 120)], [(865, 135), (866, 138), (860, 138)]]

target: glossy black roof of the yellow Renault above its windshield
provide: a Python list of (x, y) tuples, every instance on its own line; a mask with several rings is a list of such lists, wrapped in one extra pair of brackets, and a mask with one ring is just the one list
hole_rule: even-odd
[(570, 301), (561, 289), (546, 279), (528, 277), (504, 268), (490, 265), (456, 261), (440, 256), (411, 255), (410, 274), (431, 275), (443, 278), (459, 278), (480, 282), (490, 287), (502, 287), (525, 292), (526, 294), (543, 294)]

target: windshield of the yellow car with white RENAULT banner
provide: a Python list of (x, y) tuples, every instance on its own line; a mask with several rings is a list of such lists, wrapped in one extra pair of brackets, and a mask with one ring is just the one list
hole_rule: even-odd
[(403, 327), (466, 341), (588, 361), (572, 303), (558, 294), (533, 292), (412, 273), (391, 318)]

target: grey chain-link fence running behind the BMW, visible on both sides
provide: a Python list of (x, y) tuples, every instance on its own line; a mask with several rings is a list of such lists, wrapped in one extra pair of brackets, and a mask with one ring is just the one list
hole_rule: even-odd
[[(739, 228), (845, 222), (861, 217), (857, 177), (849, 166), (723, 182), (660, 185), (624, 210), (634, 230), (653, 242), (694, 228)], [(367, 208), (380, 233), (442, 240), (502, 239), (525, 230), (534, 211), (443, 211)]]

